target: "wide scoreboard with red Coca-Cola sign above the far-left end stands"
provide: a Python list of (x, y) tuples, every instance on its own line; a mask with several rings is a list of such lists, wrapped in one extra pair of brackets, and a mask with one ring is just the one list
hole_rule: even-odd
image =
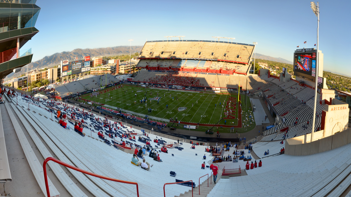
[(61, 77), (66, 75), (84, 73), (90, 70), (90, 56), (61, 60)]

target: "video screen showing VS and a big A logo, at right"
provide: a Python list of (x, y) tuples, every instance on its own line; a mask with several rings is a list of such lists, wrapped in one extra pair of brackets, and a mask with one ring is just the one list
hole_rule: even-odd
[(296, 72), (316, 76), (316, 53), (295, 53)]

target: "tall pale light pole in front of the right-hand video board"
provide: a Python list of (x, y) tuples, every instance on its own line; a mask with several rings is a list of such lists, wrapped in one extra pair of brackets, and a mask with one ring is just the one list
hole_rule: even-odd
[(317, 104), (317, 82), (318, 82), (318, 62), (319, 62), (319, 51), (318, 51), (318, 34), (319, 34), (319, 2), (317, 1), (317, 5), (311, 1), (311, 8), (314, 14), (317, 16), (317, 53), (316, 53), (316, 85), (314, 86), (314, 106), (313, 106), (313, 120), (312, 120), (312, 131), (311, 131), (311, 142), (313, 141), (313, 133), (314, 133), (314, 123), (316, 121), (316, 104)]

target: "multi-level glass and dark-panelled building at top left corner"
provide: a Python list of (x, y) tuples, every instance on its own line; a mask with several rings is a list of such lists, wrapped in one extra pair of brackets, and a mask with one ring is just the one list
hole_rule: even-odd
[[(19, 3), (20, 2), (20, 3)], [(34, 27), (40, 7), (33, 0), (0, 3), (0, 79), (32, 62), (32, 49), (21, 49), (39, 32)], [(22, 68), (23, 69), (23, 68)]]

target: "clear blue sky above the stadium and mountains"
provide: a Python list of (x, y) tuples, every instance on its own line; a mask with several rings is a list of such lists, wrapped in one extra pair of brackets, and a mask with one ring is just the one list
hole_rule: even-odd
[[(292, 61), (297, 46), (306, 47), (307, 41), (307, 48), (312, 48), (317, 42), (317, 17), (310, 1), (37, 0), (36, 4), (41, 7), (35, 25), (40, 32), (22, 47), (32, 48), (33, 61), (76, 48), (129, 46), (128, 39), (134, 39), (133, 46), (143, 46), (146, 40), (164, 40), (168, 35), (258, 42), (256, 53)], [(351, 1), (320, 1), (324, 70), (351, 75), (350, 7)]]

